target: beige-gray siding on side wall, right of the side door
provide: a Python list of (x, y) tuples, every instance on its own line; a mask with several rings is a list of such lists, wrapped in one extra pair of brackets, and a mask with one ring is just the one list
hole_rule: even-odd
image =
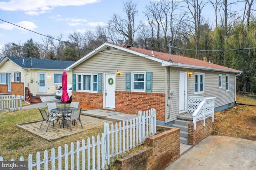
[[(194, 72), (204, 73), (204, 94), (194, 95)], [(219, 89), (219, 74), (222, 74), (222, 88)], [(229, 74), (229, 91), (226, 92), (226, 74)], [(193, 78), (192, 78), (193, 76)], [(191, 88), (188, 95), (216, 97), (214, 107), (223, 106), (234, 102), (235, 99), (235, 74), (227, 72), (212, 72), (206, 70), (193, 70)], [(189, 78), (188, 78), (189, 79)]]

